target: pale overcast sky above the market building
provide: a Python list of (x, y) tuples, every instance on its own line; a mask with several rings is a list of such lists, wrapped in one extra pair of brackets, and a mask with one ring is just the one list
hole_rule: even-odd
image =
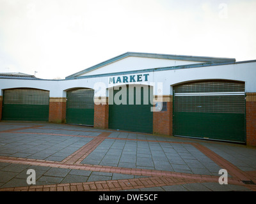
[(0, 0), (0, 72), (65, 78), (125, 52), (252, 60), (255, 22), (255, 0)]

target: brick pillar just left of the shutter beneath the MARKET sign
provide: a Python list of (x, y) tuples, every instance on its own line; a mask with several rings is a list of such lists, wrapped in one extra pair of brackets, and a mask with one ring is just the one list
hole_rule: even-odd
[(108, 129), (108, 98), (95, 98), (94, 128)]

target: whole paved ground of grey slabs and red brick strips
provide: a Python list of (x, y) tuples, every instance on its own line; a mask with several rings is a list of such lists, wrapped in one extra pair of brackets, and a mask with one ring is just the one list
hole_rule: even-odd
[(232, 143), (0, 122), (0, 191), (256, 191), (255, 158)]

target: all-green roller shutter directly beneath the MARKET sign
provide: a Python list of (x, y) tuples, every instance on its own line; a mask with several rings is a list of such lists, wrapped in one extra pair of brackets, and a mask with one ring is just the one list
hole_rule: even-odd
[[(153, 112), (150, 99), (152, 91), (149, 86), (126, 86), (118, 90), (109, 91), (109, 129), (120, 129), (141, 133), (152, 133)], [(122, 93), (122, 94), (120, 94)], [(137, 95), (137, 96), (136, 96)], [(123, 103), (119, 104), (119, 99)]]

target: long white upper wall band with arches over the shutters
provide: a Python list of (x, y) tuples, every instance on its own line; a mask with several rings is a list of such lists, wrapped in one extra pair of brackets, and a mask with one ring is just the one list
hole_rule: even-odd
[[(148, 82), (146, 82), (146, 84), (149, 84), (150, 82), (163, 82), (164, 95), (172, 94), (171, 85), (188, 82), (191, 80), (205, 79), (227, 79), (243, 81), (245, 82), (246, 92), (256, 92), (256, 62), (221, 66), (207, 66), (200, 68), (175, 69), (169, 71), (155, 71), (148, 72), (148, 74)], [(122, 75), (120, 76), (122, 77)], [(29, 87), (50, 91), (50, 97), (65, 97), (65, 91), (67, 91), (68, 89), (76, 87), (87, 87), (93, 89), (95, 88), (94, 86), (97, 85), (97, 83), (99, 82), (105, 85), (105, 88), (107, 89), (109, 85), (108, 78), (109, 77), (97, 77), (83, 78), (77, 80), (17, 80), (0, 78), (0, 89), (1, 95), (3, 94), (3, 89)], [(145, 84), (145, 82), (136, 82), (131, 84), (141, 83)], [(113, 86), (113, 84), (109, 87), (111, 86)], [(106, 89), (101, 91), (101, 96), (108, 96)]]

